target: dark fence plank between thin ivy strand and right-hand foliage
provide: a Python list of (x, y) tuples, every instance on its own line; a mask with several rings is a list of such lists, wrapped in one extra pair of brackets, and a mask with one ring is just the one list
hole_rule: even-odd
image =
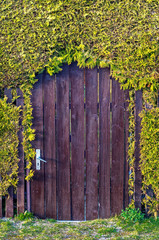
[(135, 191), (135, 208), (141, 210), (141, 184), (142, 176), (140, 170), (140, 133), (141, 133), (141, 118), (139, 113), (142, 110), (142, 91), (138, 90), (135, 92), (135, 162), (134, 162), (134, 171), (135, 171), (135, 182), (134, 182), (134, 191)]

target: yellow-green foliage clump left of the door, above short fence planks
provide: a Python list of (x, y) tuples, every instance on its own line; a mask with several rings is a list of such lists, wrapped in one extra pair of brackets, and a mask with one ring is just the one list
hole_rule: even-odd
[(19, 112), (19, 108), (7, 103), (7, 98), (0, 99), (0, 195), (18, 181)]

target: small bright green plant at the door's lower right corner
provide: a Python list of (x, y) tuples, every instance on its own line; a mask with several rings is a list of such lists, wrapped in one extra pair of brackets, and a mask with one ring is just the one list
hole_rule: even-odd
[(144, 214), (139, 210), (135, 208), (126, 208), (125, 211), (122, 210), (121, 217), (126, 222), (141, 222), (144, 219)]

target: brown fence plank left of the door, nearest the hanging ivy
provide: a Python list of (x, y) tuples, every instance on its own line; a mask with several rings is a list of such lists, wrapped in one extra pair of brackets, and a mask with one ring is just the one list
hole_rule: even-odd
[[(17, 95), (19, 98), (16, 100), (16, 105), (17, 107), (21, 106), (21, 108), (24, 105), (23, 101), (23, 94), (20, 89), (17, 89)], [(19, 146), (18, 146), (18, 156), (19, 156), (19, 170), (18, 170), (18, 186), (17, 186), (17, 214), (23, 213), (25, 208), (24, 208), (24, 188), (25, 188), (25, 182), (24, 182), (24, 151), (23, 151), (23, 134), (22, 134), (22, 113), (20, 114), (20, 121), (19, 121), (19, 126), (20, 130), (18, 132), (18, 137), (19, 137)]]

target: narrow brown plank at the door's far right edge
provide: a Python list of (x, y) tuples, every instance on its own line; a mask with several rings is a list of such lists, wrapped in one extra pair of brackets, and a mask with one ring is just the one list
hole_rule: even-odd
[(124, 208), (128, 207), (129, 204), (129, 163), (128, 163), (128, 137), (129, 137), (129, 90), (124, 93), (125, 99), (125, 164), (124, 164)]

